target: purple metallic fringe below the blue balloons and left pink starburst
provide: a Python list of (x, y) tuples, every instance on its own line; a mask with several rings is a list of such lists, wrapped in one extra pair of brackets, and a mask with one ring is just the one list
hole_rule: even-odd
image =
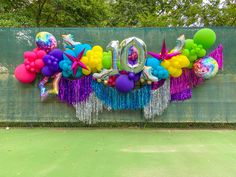
[(91, 80), (90, 76), (83, 76), (76, 80), (61, 78), (58, 93), (59, 99), (68, 104), (85, 101), (92, 93)]

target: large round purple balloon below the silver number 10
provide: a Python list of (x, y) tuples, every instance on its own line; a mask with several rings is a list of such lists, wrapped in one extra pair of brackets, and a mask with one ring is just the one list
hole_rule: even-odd
[(134, 81), (130, 80), (127, 75), (120, 75), (116, 79), (116, 89), (120, 92), (127, 93), (134, 88)]

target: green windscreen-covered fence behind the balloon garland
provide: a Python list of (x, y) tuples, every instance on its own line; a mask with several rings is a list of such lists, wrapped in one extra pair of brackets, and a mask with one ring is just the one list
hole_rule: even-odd
[[(192, 99), (172, 102), (165, 112), (151, 122), (236, 122), (236, 28), (212, 28), (216, 43), (224, 47), (224, 69), (213, 79), (193, 89)], [(160, 51), (162, 40), (168, 48), (175, 47), (182, 34), (192, 38), (197, 28), (20, 28), (0, 29), (0, 122), (77, 122), (75, 109), (49, 98), (39, 99), (38, 78), (32, 84), (20, 84), (14, 69), (22, 63), (23, 52), (35, 48), (35, 35), (40, 31), (52, 33), (63, 48), (61, 35), (72, 34), (77, 41), (103, 48), (112, 40), (122, 41), (136, 36), (148, 51)], [(209, 53), (211, 50), (208, 50)], [(79, 113), (77, 113), (79, 114)], [(92, 115), (93, 116), (93, 115)], [(143, 110), (103, 110), (94, 115), (93, 122), (144, 122)]]

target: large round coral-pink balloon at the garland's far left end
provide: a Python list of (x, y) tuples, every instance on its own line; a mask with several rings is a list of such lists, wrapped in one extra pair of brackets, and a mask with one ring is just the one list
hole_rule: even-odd
[(23, 84), (31, 83), (36, 78), (36, 74), (26, 70), (24, 64), (18, 65), (15, 69), (14, 74), (15, 74), (16, 79)]

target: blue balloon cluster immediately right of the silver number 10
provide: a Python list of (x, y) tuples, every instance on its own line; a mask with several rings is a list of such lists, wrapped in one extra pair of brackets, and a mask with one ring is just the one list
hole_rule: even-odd
[(161, 61), (156, 58), (148, 58), (146, 61), (146, 66), (152, 67), (152, 74), (156, 76), (159, 80), (167, 79), (169, 77), (168, 71), (161, 66)]

